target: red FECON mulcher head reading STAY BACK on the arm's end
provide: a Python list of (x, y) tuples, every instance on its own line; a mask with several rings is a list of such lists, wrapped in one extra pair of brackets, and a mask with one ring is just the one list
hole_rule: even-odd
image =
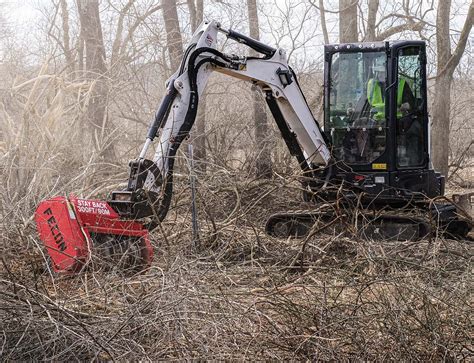
[(133, 271), (145, 269), (153, 259), (148, 230), (121, 220), (104, 201), (55, 197), (40, 203), (35, 220), (55, 272), (81, 271), (96, 251), (114, 266)]

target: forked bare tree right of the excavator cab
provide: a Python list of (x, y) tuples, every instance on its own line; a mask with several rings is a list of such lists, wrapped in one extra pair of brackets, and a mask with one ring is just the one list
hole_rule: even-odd
[(474, 22), (474, 1), (459, 36), (454, 51), (450, 39), (451, 0), (440, 1), (436, 16), (436, 48), (438, 51), (436, 86), (432, 108), (432, 147), (433, 164), (443, 175), (448, 175), (449, 119), (451, 110), (451, 84)]

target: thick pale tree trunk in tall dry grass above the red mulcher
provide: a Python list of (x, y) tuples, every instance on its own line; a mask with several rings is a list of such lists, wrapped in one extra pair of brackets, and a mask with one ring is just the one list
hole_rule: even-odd
[(104, 40), (99, 16), (99, 1), (77, 2), (81, 36), (84, 42), (86, 79), (91, 81), (93, 89), (86, 111), (86, 120), (91, 125), (92, 142), (101, 157), (112, 162), (115, 160), (114, 140), (108, 136), (113, 126), (107, 117), (107, 66), (105, 62)]

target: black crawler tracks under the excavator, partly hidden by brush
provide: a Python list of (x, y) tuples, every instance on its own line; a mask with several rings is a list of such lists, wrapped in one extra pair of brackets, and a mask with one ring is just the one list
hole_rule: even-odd
[[(463, 196), (467, 200), (473, 198), (474, 193)], [(265, 231), (277, 238), (305, 238), (329, 228), (380, 240), (416, 241), (433, 235), (466, 238), (473, 227), (471, 208), (470, 204), (461, 207), (447, 199), (407, 204), (403, 208), (334, 202), (273, 214)]]

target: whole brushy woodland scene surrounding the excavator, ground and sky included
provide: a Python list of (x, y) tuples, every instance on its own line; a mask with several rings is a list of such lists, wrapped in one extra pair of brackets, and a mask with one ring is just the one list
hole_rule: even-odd
[(189, 140), (199, 244), (182, 147), (150, 271), (51, 273), (35, 206), (124, 185), (183, 47), (213, 19), (286, 48), (318, 119), (325, 43), (425, 40), (433, 161), (450, 192), (473, 187), (472, 1), (0, 1), (0, 356), (469, 359), (472, 243), (380, 243), (350, 225), (266, 236), (266, 217), (301, 207), (298, 166), (261, 95), (222, 75)]

